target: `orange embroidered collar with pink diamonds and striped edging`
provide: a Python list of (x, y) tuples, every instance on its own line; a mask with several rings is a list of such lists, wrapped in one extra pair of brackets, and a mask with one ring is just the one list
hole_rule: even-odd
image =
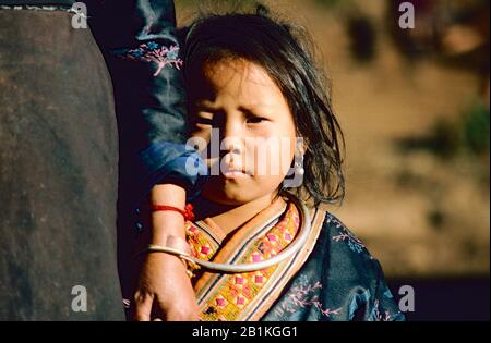
[[(298, 271), (315, 244), (324, 212), (314, 210), (314, 231), (307, 246), (285, 261), (244, 273), (196, 272), (193, 286), (202, 320), (258, 320)], [(318, 213), (319, 212), (319, 213)], [(319, 218), (322, 217), (322, 220)], [(299, 209), (278, 199), (254, 216), (230, 237), (211, 219), (187, 222), (192, 255), (216, 262), (247, 264), (267, 259), (285, 249), (300, 231)]]

